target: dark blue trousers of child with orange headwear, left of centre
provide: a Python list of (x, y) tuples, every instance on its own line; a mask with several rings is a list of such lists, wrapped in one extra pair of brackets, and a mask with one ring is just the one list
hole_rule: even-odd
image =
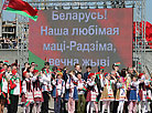
[(61, 95), (54, 99), (54, 112), (61, 113)]

